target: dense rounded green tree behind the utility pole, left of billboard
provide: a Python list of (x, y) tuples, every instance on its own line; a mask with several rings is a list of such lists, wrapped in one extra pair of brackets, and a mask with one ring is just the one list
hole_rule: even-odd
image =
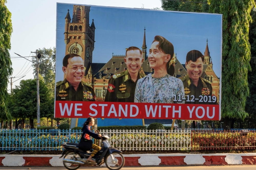
[[(54, 111), (54, 101), (44, 79), (39, 76), (40, 117), (50, 117)], [(20, 81), (20, 85), (13, 89), (12, 109), (14, 117), (29, 118), (30, 128), (34, 128), (37, 118), (37, 88), (36, 79)]]

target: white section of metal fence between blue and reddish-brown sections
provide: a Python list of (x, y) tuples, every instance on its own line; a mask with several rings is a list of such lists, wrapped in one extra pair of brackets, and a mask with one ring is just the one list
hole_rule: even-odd
[[(120, 150), (191, 150), (191, 130), (100, 130)], [(99, 146), (102, 143), (98, 143)]]

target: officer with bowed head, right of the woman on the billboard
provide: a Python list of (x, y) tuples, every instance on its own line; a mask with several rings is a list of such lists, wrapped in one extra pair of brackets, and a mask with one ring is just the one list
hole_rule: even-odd
[[(211, 82), (203, 79), (204, 55), (198, 50), (192, 50), (187, 53), (186, 69), (188, 74), (180, 78), (184, 85), (186, 104), (216, 104), (213, 102)], [(189, 102), (187, 96), (189, 95)], [(194, 97), (193, 97), (194, 96)], [(207, 100), (204, 96), (207, 96)], [(210, 97), (209, 97), (210, 96)], [(215, 98), (216, 99), (216, 98)], [(205, 102), (206, 101), (206, 102)]]

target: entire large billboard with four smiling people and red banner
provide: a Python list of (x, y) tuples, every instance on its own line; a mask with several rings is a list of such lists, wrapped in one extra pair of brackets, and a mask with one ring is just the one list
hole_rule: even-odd
[(220, 120), (222, 15), (57, 3), (55, 117)]

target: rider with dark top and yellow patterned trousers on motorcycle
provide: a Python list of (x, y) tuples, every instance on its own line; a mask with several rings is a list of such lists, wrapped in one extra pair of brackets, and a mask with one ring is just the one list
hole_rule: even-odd
[(84, 122), (82, 131), (82, 137), (80, 139), (79, 143), (79, 149), (83, 151), (88, 151), (93, 149), (92, 154), (88, 157), (87, 162), (94, 162), (91, 158), (101, 149), (99, 146), (92, 143), (92, 140), (90, 139), (90, 136), (92, 136), (95, 139), (101, 139), (101, 134), (93, 133), (91, 131), (91, 126), (94, 125), (94, 118), (89, 117), (86, 122)]

